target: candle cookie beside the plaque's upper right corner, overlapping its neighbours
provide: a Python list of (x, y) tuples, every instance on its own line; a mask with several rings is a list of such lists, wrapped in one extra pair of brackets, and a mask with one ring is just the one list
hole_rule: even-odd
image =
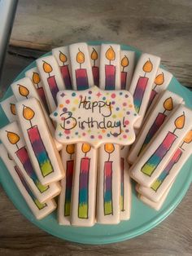
[(129, 92), (133, 95), (134, 106), (140, 116), (135, 124), (136, 129), (142, 125), (159, 64), (159, 57), (142, 54), (133, 73)]

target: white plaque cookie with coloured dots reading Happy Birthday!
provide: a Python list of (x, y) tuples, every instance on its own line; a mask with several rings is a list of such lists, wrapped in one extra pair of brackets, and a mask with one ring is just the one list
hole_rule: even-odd
[(84, 91), (64, 90), (58, 94), (58, 108), (50, 117), (57, 122), (55, 138), (60, 143), (89, 141), (131, 144), (137, 113), (133, 97), (126, 90), (106, 91), (97, 86)]

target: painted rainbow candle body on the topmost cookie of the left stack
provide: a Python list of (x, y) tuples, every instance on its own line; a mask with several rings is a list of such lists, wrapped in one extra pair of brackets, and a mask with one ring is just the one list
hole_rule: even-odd
[(33, 126), (28, 129), (28, 138), (32, 144), (33, 152), (37, 157), (37, 161), (41, 169), (41, 174), (43, 177), (46, 177), (46, 175), (54, 172), (54, 169), (51, 164), (50, 157), (46, 152), (44, 143), (41, 140), (41, 135), (37, 126)]

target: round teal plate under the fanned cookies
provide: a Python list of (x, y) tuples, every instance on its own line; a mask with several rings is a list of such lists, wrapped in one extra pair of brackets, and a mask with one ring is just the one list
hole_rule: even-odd
[[(100, 42), (90, 42), (90, 44), (99, 44)], [(131, 46), (121, 46), (124, 50), (136, 51), (137, 57), (141, 54), (140, 51)], [(34, 63), (30, 64), (24, 69), (22, 73), (15, 80), (24, 77), (24, 73), (29, 68), (33, 68)], [(184, 86), (173, 77), (171, 84), (168, 86), (168, 90), (181, 95), (185, 99), (185, 104), (192, 108), (192, 92), (187, 90)], [(7, 94), (4, 96), (6, 99), (9, 95), (12, 95), (11, 89), (7, 90)], [(7, 117), (0, 109), (0, 127), (5, 126), (8, 121)], [(22, 214), (37, 227), (45, 230), (53, 236), (58, 236), (61, 239), (74, 241), (83, 244), (107, 244), (118, 241), (124, 241), (134, 236), (142, 235), (144, 232), (149, 231), (161, 223), (164, 218), (168, 217), (169, 214), (177, 207), (185, 192), (190, 187), (192, 180), (192, 158), (185, 163), (180, 174), (177, 176), (176, 182), (173, 184), (171, 191), (168, 194), (167, 200), (164, 202), (163, 208), (158, 212), (152, 210), (147, 205), (144, 205), (142, 201), (137, 199), (137, 194), (133, 189), (132, 198), (132, 210), (131, 218), (129, 221), (122, 221), (118, 225), (101, 225), (96, 224), (94, 227), (63, 227), (57, 223), (56, 212), (50, 214), (48, 217), (37, 220), (33, 217), (33, 214), (28, 209), (23, 197), (21, 196), (18, 189), (15, 187), (15, 183), (8, 174), (6, 166), (0, 161), (0, 181), (2, 187), (7, 192), (7, 196), (14, 203), (15, 207), (20, 210)]]

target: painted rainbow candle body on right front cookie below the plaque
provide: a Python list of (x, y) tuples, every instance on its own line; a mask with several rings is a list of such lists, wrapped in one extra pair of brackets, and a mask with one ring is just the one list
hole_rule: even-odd
[(113, 214), (112, 205), (112, 161), (105, 161), (104, 166), (104, 214)]

